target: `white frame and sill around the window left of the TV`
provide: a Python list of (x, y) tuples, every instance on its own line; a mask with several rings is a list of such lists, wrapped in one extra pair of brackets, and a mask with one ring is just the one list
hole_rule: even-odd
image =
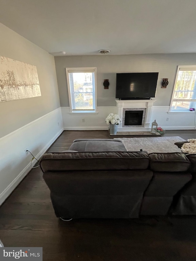
[[(69, 71), (75, 71), (76, 73), (85, 73), (85, 71), (93, 70), (94, 71), (94, 78), (95, 78), (95, 110), (77, 110), (74, 111), (72, 103), (71, 103), (71, 91), (70, 91), (70, 80), (69, 80)], [(97, 77), (96, 77), (96, 67), (69, 67), (66, 68), (66, 77), (67, 77), (67, 88), (68, 88), (68, 95), (69, 95), (69, 103), (70, 103), (70, 114), (98, 114), (97, 112)]]

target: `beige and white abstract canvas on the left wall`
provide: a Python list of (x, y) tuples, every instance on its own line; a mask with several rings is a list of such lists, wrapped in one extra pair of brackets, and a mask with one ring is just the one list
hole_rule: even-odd
[(0, 56), (0, 102), (41, 96), (37, 68)]

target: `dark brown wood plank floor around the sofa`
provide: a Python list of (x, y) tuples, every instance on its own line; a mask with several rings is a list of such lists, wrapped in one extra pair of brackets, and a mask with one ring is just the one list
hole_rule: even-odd
[[(196, 131), (164, 136), (196, 138)], [(109, 138), (107, 131), (64, 131), (48, 151), (77, 138)], [(196, 260), (196, 217), (78, 219), (55, 217), (40, 167), (32, 169), (0, 208), (0, 239), (6, 247), (43, 247), (43, 260)]]

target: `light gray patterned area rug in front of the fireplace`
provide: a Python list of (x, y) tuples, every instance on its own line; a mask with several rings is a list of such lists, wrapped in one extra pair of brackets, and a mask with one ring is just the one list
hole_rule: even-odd
[(152, 152), (182, 152), (174, 143), (185, 141), (179, 136), (174, 137), (146, 137), (146, 138), (115, 138), (122, 140), (127, 151), (147, 151)]

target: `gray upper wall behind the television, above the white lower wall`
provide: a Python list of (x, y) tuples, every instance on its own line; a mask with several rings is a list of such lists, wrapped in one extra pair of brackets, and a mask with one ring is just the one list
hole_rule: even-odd
[[(66, 82), (66, 67), (97, 68), (97, 106), (116, 106), (116, 73), (159, 72), (154, 106), (169, 106), (178, 65), (196, 65), (196, 54), (134, 54), (134, 55), (93, 55), (57, 56), (56, 74), (61, 106), (69, 106)], [(167, 88), (161, 88), (163, 78), (168, 78)], [(109, 89), (103, 81), (109, 79)]]

